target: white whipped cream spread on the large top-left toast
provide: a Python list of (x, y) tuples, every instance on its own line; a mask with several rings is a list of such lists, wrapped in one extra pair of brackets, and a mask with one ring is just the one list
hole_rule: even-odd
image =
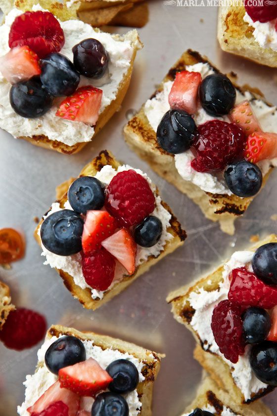
[[(40, 5), (34, 5), (33, 10), (44, 10)], [(5, 17), (0, 26), (0, 56), (9, 51), (8, 35), (14, 19), (22, 11), (14, 8)], [(65, 36), (65, 44), (60, 53), (73, 61), (72, 48), (87, 38), (97, 39), (103, 44), (109, 54), (108, 69), (104, 77), (93, 80), (81, 76), (79, 87), (92, 85), (103, 91), (100, 113), (116, 98), (117, 91), (124, 75), (128, 71), (134, 52), (131, 39), (133, 31), (125, 38), (114, 39), (109, 33), (98, 32), (92, 26), (81, 20), (59, 21)], [(137, 45), (139, 48), (139, 45)], [(65, 120), (55, 115), (59, 104), (65, 98), (56, 98), (52, 107), (42, 117), (30, 119), (16, 114), (9, 102), (11, 84), (0, 73), (0, 127), (14, 137), (32, 137), (33, 135), (47, 136), (50, 140), (73, 146), (80, 142), (89, 142), (94, 134), (94, 128), (79, 121)]]

